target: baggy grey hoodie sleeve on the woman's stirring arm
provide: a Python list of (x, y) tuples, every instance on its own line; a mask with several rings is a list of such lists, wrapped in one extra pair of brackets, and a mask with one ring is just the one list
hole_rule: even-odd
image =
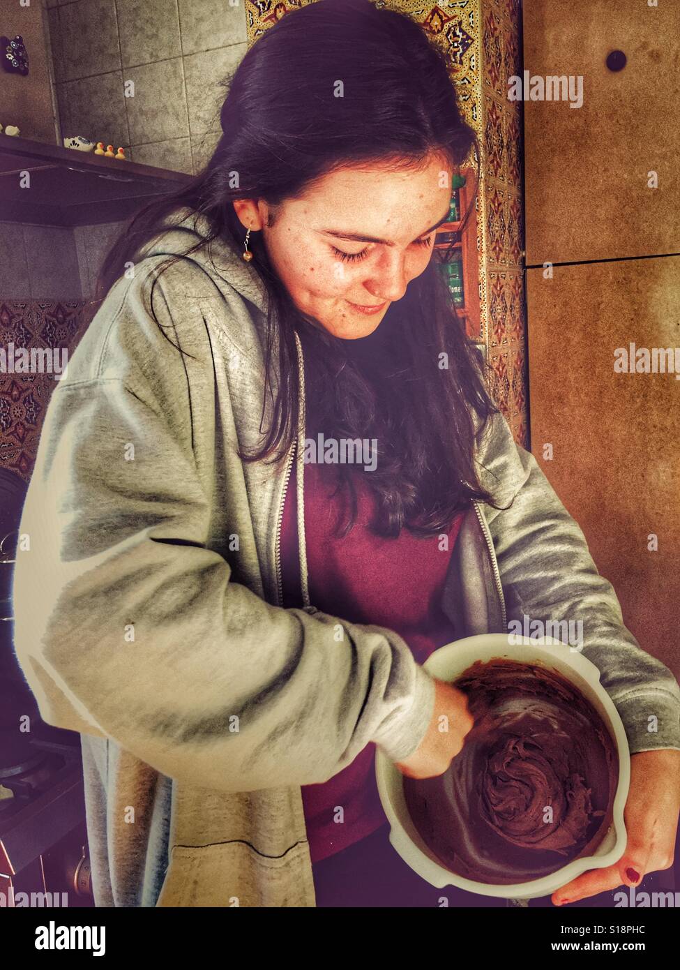
[(391, 630), (235, 582), (191, 447), (140, 386), (77, 367), (49, 403), (13, 591), (41, 716), (225, 792), (323, 782), (371, 741), (406, 758), (434, 680)]

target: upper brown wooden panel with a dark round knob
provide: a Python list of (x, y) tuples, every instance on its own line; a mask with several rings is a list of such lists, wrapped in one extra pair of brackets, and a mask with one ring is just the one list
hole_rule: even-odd
[(525, 70), (580, 75), (584, 99), (524, 102), (527, 264), (680, 252), (680, 2), (524, 0), (523, 18)]

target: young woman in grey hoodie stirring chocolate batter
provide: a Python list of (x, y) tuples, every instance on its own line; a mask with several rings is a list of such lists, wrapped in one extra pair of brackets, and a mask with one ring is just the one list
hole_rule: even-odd
[(477, 902), (397, 857), (373, 755), (444, 772), (471, 718), (421, 664), (523, 614), (583, 621), (632, 753), (625, 856), (553, 902), (668, 866), (677, 684), (433, 261), (474, 145), (443, 57), (406, 16), (319, 0), (248, 51), (221, 123), (110, 254), (21, 524), (17, 656), (82, 735), (97, 905)]

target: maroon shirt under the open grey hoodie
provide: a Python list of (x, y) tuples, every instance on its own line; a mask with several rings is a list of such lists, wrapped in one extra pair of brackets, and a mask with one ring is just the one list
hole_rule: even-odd
[[(283, 604), (302, 606), (298, 559), (296, 470), (293, 463), (283, 506), (281, 566)], [(367, 472), (370, 474), (371, 472)], [(305, 537), (308, 589), (312, 606), (351, 623), (395, 630), (424, 663), (438, 647), (456, 638), (440, 608), (451, 550), (463, 513), (448, 533), (448, 549), (437, 535), (420, 538), (403, 529), (398, 538), (370, 533), (374, 498), (358, 483), (358, 516), (342, 539), (335, 534), (340, 497), (331, 498), (337, 478), (332, 465), (305, 466)], [(375, 783), (375, 745), (370, 743), (337, 775), (319, 785), (304, 785), (303, 805), (312, 863), (330, 857), (371, 835), (387, 821)], [(335, 822), (342, 806), (343, 823)]]

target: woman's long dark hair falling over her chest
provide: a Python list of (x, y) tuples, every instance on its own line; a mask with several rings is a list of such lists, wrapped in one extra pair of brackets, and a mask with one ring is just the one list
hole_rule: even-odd
[[(178, 207), (198, 210), (210, 225), (204, 241), (180, 258), (215, 237), (240, 254), (243, 225), (234, 200), (264, 199), (272, 225), (277, 207), (343, 165), (413, 166), (437, 153), (456, 169), (473, 149), (478, 182), (479, 148), (456, 104), (449, 66), (414, 20), (371, 0), (317, 0), (283, 16), (231, 78), (220, 114), (223, 135), (207, 166), (130, 221), (104, 263), (97, 295), (105, 295), (124, 263), (172, 224), (167, 220)], [(343, 97), (333, 96), (338, 81)], [(372, 531), (380, 535), (396, 536), (403, 526), (420, 535), (448, 531), (472, 500), (500, 507), (477, 478), (472, 418), (474, 411), (481, 419), (481, 435), (498, 407), (485, 386), (481, 352), (466, 334), (434, 257), (378, 327), (389, 329), (394, 352), (376, 355), (367, 371), (347, 351), (354, 341), (335, 338), (295, 307), (262, 234), (251, 237), (249, 248), (250, 266), (269, 295), (263, 419), (268, 391), (273, 408), (264, 442), (240, 452), (242, 460), (279, 461), (295, 438), (297, 331), (306, 362), (306, 435), (318, 429), (326, 438), (378, 442), (375, 469), (338, 466), (339, 483), (351, 497), (344, 533), (356, 521), (357, 475), (377, 499)], [(275, 392), (274, 366), (280, 376)]]

